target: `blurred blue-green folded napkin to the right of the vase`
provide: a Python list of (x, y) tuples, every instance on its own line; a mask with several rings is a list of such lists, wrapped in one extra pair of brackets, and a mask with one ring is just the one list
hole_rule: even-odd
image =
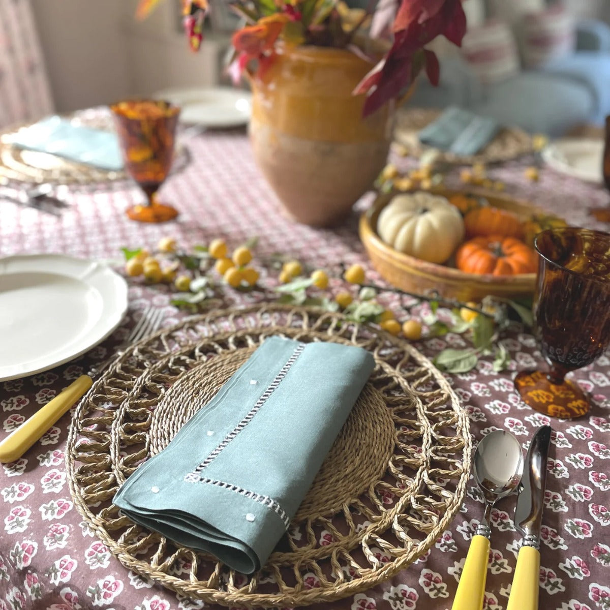
[(499, 127), (491, 117), (451, 106), (419, 132), (419, 140), (426, 146), (467, 157), (485, 148)]

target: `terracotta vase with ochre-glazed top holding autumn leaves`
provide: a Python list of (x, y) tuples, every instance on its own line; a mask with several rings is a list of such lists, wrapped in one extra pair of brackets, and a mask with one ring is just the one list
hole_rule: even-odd
[(279, 49), (252, 79), (254, 158), (284, 212), (313, 226), (344, 218), (384, 167), (393, 106), (362, 118), (352, 91), (373, 66), (344, 49)]

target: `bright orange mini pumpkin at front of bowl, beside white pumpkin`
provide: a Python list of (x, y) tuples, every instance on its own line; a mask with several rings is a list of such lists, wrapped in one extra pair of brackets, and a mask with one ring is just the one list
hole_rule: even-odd
[(462, 243), (456, 252), (456, 265), (465, 273), (518, 275), (536, 273), (536, 252), (514, 237), (488, 235)]

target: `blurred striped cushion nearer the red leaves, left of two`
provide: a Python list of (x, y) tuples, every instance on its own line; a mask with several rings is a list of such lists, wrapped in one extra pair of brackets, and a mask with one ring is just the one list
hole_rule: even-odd
[(468, 30), (462, 52), (481, 82), (500, 82), (519, 73), (517, 43), (511, 28), (501, 21)]

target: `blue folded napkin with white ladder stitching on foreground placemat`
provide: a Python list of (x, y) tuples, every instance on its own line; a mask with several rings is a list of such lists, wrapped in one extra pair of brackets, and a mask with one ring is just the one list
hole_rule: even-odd
[(118, 490), (134, 522), (253, 573), (285, 533), (373, 370), (338, 343), (270, 337)]

